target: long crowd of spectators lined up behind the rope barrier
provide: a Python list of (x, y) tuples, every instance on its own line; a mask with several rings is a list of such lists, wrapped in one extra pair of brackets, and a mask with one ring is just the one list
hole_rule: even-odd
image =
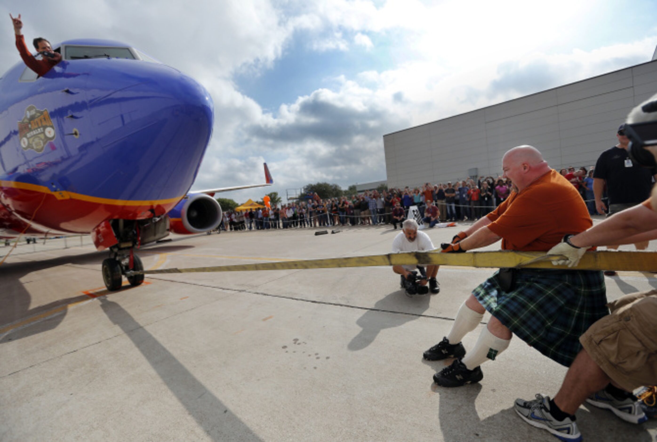
[[(578, 189), (589, 213), (595, 214), (593, 169), (568, 167), (560, 173)], [(506, 200), (511, 190), (509, 179), (480, 177), (477, 181), (470, 178), (455, 183), (426, 183), (422, 187), (371, 190), (340, 198), (322, 199), (315, 193), (280, 208), (226, 211), (222, 227), (260, 230), (392, 224), (397, 228), (411, 206), (417, 206), (424, 221), (434, 227), (439, 222), (480, 219)]]

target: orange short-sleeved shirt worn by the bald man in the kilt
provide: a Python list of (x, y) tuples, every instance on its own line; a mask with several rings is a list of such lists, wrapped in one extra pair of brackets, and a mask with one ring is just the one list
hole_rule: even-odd
[(547, 252), (566, 234), (593, 225), (578, 190), (551, 170), (487, 215), (488, 228), (502, 237), (502, 250)]

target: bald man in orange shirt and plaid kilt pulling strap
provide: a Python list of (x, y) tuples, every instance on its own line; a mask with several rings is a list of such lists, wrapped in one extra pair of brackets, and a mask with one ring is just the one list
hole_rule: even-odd
[[(551, 169), (532, 146), (510, 149), (502, 159), (509, 198), (472, 227), (459, 233), (443, 252), (464, 252), (502, 240), (503, 250), (547, 252), (564, 235), (583, 232), (591, 217), (579, 192)], [(479, 382), (480, 365), (509, 346), (513, 334), (553, 361), (570, 366), (579, 336), (608, 314), (600, 271), (501, 269), (472, 291), (461, 305), (449, 334), (424, 352), (424, 359), (456, 357), (434, 375), (443, 387)], [(467, 355), (461, 340), (489, 311), (493, 317)]]

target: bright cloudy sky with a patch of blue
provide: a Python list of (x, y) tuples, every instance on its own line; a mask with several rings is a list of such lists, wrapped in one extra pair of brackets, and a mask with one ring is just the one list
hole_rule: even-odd
[(386, 179), (383, 135), (647, 62), (657, 2), (3, 0), (23, 33), (125, 41), (202, 83), (214, 135), (194, 188), (237, 202)]

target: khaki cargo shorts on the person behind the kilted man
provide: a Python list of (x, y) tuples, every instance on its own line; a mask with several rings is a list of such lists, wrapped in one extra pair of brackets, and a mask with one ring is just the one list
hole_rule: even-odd
[(608, 303), (612, 313), (579, 338), (591, 359), (627, 391), (657, 384), (657, 290)]

